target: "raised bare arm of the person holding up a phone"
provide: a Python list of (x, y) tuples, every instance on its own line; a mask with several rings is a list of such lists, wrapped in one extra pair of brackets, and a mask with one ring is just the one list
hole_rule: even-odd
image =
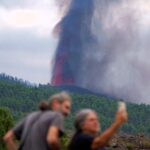
[(95, 138), (92, 143), (92, 149), (95, 150), (97, 148), (104, 147), (109, 140), (113, 137), (116, 131), (121, 127), (123, 123), (127, 121), (127, 114), (117, 113), (116, 121), (111, 125), (109, 129), (107, 129), (101, 136)]

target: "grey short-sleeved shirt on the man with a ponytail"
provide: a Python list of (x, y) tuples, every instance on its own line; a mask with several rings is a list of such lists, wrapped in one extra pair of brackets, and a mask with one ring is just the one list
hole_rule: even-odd
[(52, 126), (59, 129), (60, 135), (63, 133), (63, 116), (60, 113), (34, 112), (19, 123), (13, 132), (21, 141), (22, 150), (50, 150), (46, 139)]

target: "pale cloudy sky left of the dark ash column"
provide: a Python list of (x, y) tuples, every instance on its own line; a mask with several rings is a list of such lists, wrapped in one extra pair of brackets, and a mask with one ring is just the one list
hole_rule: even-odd
[(59, 19), (55, 0), (0, 0), (0, 73), (50, 81)]

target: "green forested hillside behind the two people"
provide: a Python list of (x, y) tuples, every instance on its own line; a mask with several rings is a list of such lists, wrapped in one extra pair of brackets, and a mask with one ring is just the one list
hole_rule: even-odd
[[(27, 81), (0, 75), (0, 107), (7, 107), (18, 121), (28, 113), (37, 110), (38, 103), (50, 95), (64, 88), (50, 85), (32, 85)], [(86, 92), (81, 92), (86, 91)], [(72, 131), (72, 122), (75, 112), (82, 108), (92, 108), (99, 114), (102, 129), (109, 127), (117, 110), (117, 100), (88, 92), (85, 89), (72, 87), (73, 97), (72, 115), (66, 121), (66, 127)], [(121, 129), (121, 133), (149, 134), (150, 133), (150, 106), (128, 103), (129, 122)]]

